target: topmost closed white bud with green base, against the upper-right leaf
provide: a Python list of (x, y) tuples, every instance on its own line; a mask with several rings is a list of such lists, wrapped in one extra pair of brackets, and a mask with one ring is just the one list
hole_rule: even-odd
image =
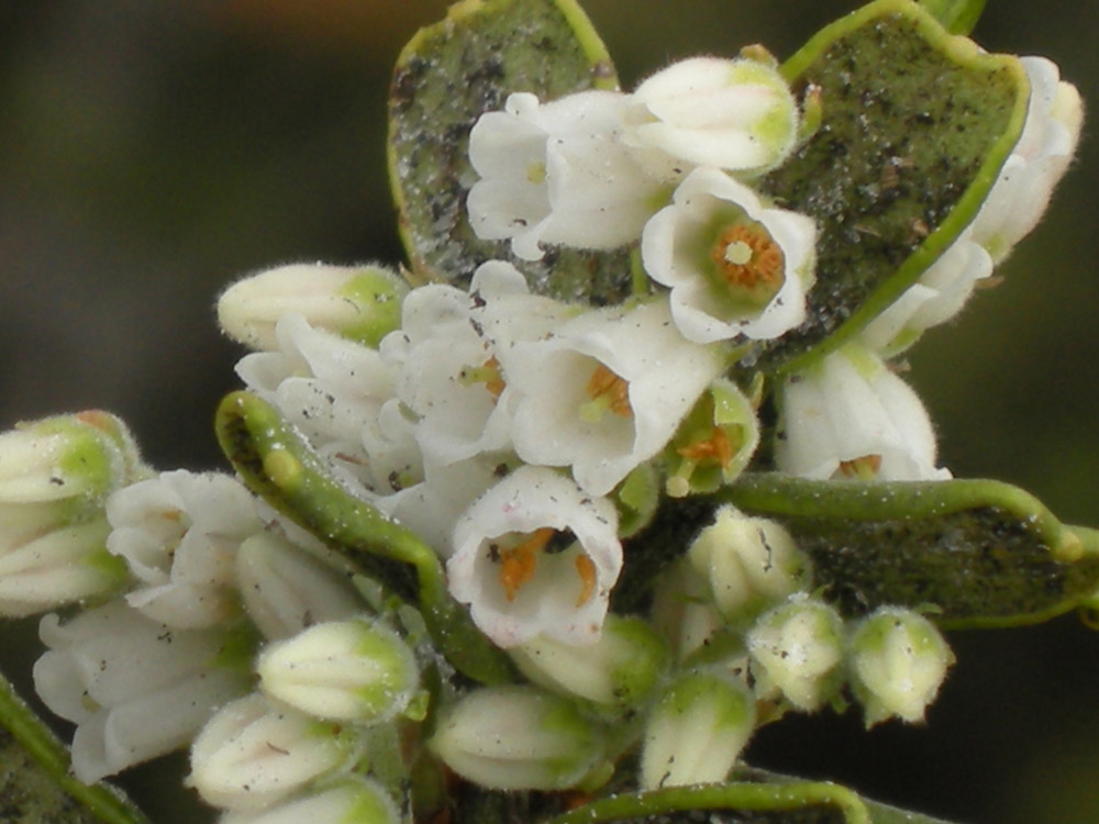
[(675, 181), (695, 166), (754, 175), (793, 149), (798, 107), (777, 68), (752, 59), (692, 57), (630, 96), (625, 145), (645, 170)]

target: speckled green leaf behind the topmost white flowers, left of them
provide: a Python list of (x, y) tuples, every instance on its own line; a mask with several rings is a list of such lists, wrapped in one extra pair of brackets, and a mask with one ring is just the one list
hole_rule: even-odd
[(484, 112), (514, 91), (551, 100), (617, 86), (575, 0), (465, 0), (421, 30), (397, 62), (389, 103), (389, 174), (413, 276), (466, 286), (477, 266), (500, 259), (537, 292), (602, 302), (628, 294), (628, 250), (551, 249), (541, 261), (519, 260), (508, 242), (479, 241), (465, 208), (477, 178), (468, 135)]

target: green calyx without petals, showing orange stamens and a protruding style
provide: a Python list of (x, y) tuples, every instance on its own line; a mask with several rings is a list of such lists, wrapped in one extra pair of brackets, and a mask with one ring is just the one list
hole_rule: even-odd
[(752, 401), (731, 380), (719, 378), (684, 419), (668, 445), (667, 492), (682, 498), (712, 492), (744, 471), (759, 445)]

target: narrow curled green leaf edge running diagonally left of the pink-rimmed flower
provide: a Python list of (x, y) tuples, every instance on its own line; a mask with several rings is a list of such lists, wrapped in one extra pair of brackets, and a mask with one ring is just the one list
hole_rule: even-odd
[(266, 401), (226, 396), (215, 430), (253, 492), (401, 598), (418, 603), (435, 647), (484, 683), (512, 680), (507, 657), (451, 598), (435, 552), (411, 530), (349, 494), (300, 434)]

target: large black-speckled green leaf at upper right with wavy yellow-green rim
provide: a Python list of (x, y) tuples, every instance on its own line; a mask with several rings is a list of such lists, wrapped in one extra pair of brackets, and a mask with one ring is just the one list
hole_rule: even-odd
[(822, 90), (823, 120), (759, 187), (819, 227), (817, 283), (798, 329), (746, 368), (803, 368), (861, 331), (970, 222), (1015, 144), (1028, 81), (911, 0), (878, 0), (818, 33), (784, 66)]

